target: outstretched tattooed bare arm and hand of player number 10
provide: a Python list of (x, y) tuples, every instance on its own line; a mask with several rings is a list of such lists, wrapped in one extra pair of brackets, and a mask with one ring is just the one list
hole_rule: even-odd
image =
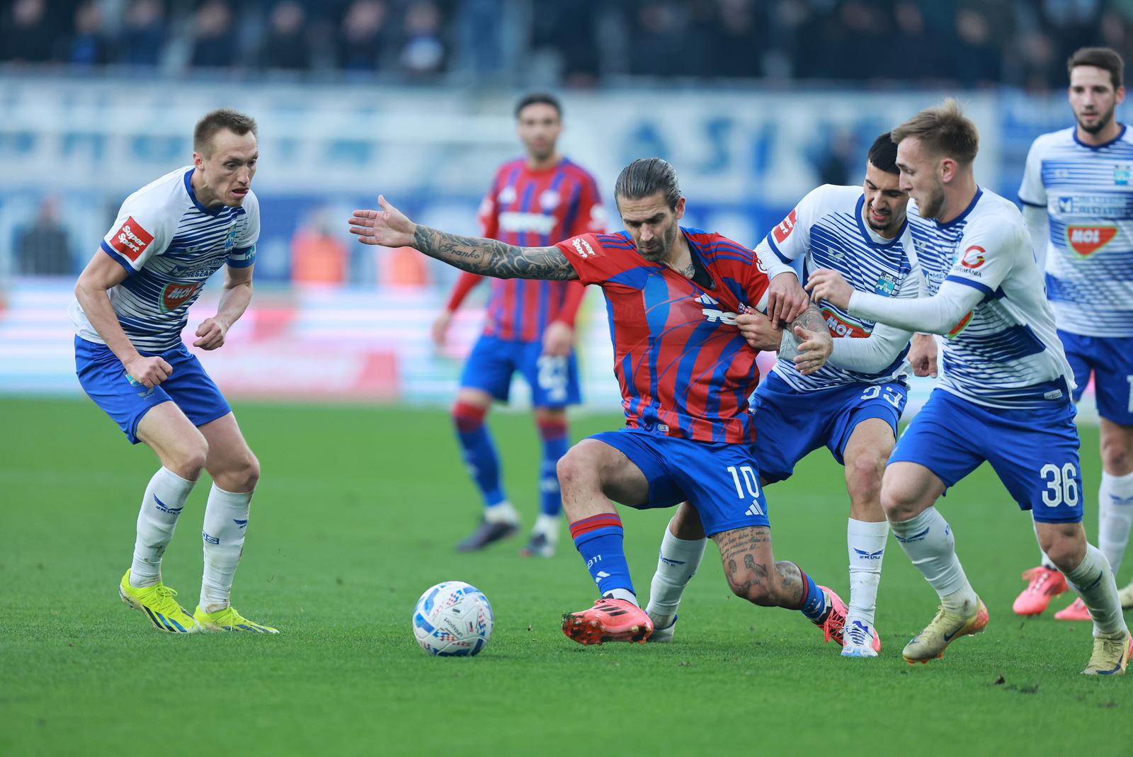
[(496, 279), (578, 279), (557, 247), (516, 247), (495, 239), (459, 237), (414, 223), (378, 196), (382, 210), (355, 211), (350, 233), (366, 245), (414, 247), (429, 257)]

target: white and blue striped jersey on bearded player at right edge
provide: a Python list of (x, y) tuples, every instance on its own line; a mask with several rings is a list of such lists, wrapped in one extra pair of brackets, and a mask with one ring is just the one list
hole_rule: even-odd
[(1076, 127), (1043, 134), (1026, 155), (1019, 199), (1047, 211), (1047, 297), (1058, 328), (1087, 337), (1133, 337), (1127, 128), (1097, 146), (1079, 142)]

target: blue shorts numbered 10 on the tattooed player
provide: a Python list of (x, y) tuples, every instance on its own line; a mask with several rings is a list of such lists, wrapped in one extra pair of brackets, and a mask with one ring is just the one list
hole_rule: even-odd
[(688, 500), (708, 536), (770, 525), (759, 466), (747, 444), (696, 442), (639, 428), (605, 431), (590, 439), (621, 451), (645, 474), (649, 501), (632, 508), (671, 508)]

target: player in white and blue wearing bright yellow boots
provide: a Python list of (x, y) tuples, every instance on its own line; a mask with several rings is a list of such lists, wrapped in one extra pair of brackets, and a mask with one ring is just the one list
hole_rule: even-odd
[[(257, 631), (231, 605), (259, 462), (232, 409), (181, 341), (189, 306), (224, 269), (216, 315), (194, 347), (213, 350), (252, 300), (259, 204), (252, 193), (256, 122), (231, 110), (207, 113), (193, 133), (193, 165), (126, 198), (114, 227), (75, 284), (70, 316), (79, 383), (134, 444), (161, 460), (142, 497), (134, 562), (122, 602), (174, 633)], [(161, 580), (161, 558), (202, 469), (213, 479), (205, 505), (201, 603), (189, 614)]]

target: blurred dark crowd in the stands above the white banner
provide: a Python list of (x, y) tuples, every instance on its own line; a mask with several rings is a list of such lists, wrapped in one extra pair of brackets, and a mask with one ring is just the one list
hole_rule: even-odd
[(593, 86), (1065, 85), (1133, 0), (3, 0), (0, 67)]

